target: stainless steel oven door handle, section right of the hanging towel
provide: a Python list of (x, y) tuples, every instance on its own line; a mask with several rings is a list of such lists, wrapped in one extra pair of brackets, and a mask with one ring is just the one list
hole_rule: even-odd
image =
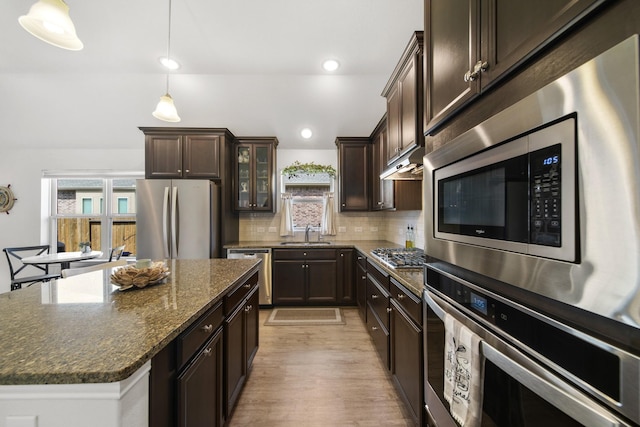
[(482, 354), (497, 367), (511, 375), (520, 384), (528, 387), (535, 394), (556, 406), (576, 421), (589, 426), (622, 426), (619, 420), (603, 408), (598, 410), (593, 402), (573, 396), (557, 387), (541, 376), (531, 372), (520, 363), (496, 350), (486, 341), (480, 343)]

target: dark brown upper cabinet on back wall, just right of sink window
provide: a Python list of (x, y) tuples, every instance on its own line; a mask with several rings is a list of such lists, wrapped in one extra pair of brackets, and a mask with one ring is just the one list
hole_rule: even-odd
[(368, 211), (371, 184), (371, 143), (366, 137), (339, 137), (338, 188), (340, 212)]

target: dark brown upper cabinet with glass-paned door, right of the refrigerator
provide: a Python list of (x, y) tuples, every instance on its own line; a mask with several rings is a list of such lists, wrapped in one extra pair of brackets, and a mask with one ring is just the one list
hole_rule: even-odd
[(238, 138), (233, 178), (237, 212), (274, 212), (276, 138)]

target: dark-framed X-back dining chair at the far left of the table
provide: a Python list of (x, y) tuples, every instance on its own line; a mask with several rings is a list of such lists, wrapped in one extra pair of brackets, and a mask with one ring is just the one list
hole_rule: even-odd
[[(4, 248), (2, 251), (7, 256), (7, 262), (9, 263), (12, 291), (22, 288), (24, 284), (31, 286), (37, 282), (48, 282), (51, 279), (60, 277), (59, 274), (49, 274), (48, 264), (22, 263), (22, 258), (48, 254), (49, 245)], [(38, 272), (38, 274), (34, 274), (35, 272)]]

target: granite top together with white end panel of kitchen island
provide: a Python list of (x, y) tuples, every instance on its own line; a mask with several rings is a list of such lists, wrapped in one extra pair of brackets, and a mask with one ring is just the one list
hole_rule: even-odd
[(166, 283), (120, 291), (109, 270), (0, 295), (0, 426), (148, 423), (151, 360), (257, 260), (171, 260)]

